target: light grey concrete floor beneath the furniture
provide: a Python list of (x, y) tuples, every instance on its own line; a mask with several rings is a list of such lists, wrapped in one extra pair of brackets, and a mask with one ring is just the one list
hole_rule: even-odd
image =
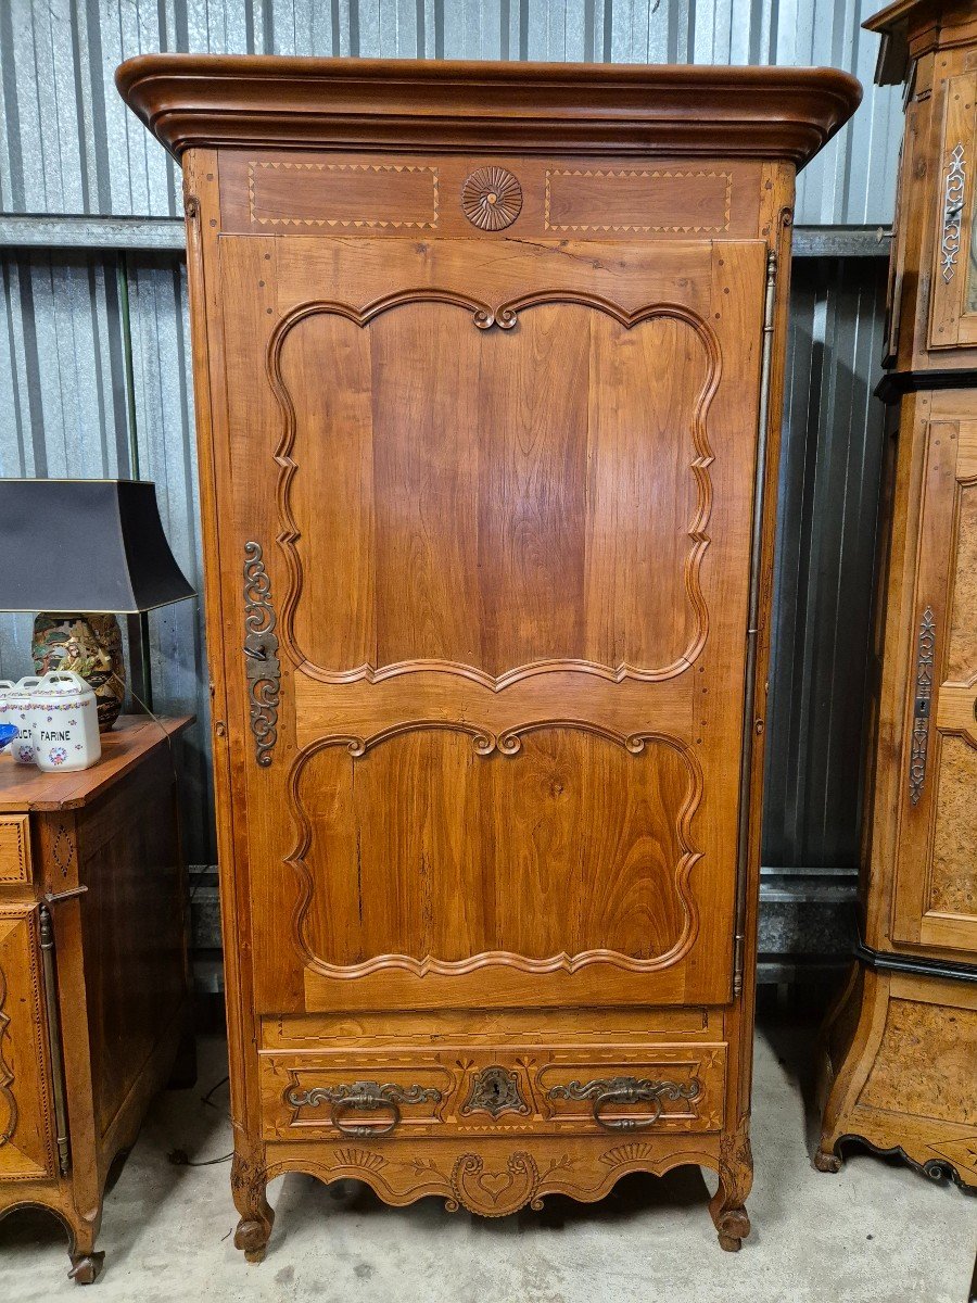
[[(224, 1046), (202, 1044), (193, 1091), (168, 1092), (106, 1200), (98, 1303), (964, 1303), (977, 1200), (890, 1160), (856, 1153), (836, 1175), (808, 1161), (813, 1029), (757, 1037), (749, 1200), (753, 1234), (723, 1253), (696, 1169), (628, 1177), (601, 1204), (556, 1197), (541, 1213), (486, 1221), (439, 1200), (384, 1208), (352, 1182), (288, 1175), (271, 1187), (266, 1261), (232, 1247), (229, 1165), (178, 1167), (229, 1149)], [(0, 1299), (78, 1299), (57, 1225), (22, 1210), (0, 1222)]]

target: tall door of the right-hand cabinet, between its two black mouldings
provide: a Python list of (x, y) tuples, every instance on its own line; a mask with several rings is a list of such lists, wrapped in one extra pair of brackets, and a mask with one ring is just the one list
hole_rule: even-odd
[(894, 939), (977, 955), (977, 421), (934, 395), (896, 840)]

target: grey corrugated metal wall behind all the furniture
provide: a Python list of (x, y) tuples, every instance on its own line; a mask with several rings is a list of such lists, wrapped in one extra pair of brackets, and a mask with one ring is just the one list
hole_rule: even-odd
[[(797, 220), (885, 224), (901, 107), (896, 90), (870, 86), (875, 38), (858, 23), (873, 8), (874, 0), (0, 0), (0, 210), (178, 212), (173, 167), (116, 95), (115, 66), (154, 50), (274, 51), (835, 64), (861, 77), (866, 98), (802, 175)], [(7, 251), (0, 272), (0, 474), (156, 480), (173, 550), (199, 586), (181, 258)], [(763, 852), (765, 864), (788, 872), (856, 863), (883, 275), (881, 258), (795, 263)], [(0, 616), (0, 675), (26, 671), (29, 623)], [(156, 706), (202, 719), (189, 735), (185, 822), (191, 861), (208, 864), (199, 610), (155, 612), (151, 635)], [(767, 950), (788, 945), (797, 916), (779, 926), (771, 907)]]

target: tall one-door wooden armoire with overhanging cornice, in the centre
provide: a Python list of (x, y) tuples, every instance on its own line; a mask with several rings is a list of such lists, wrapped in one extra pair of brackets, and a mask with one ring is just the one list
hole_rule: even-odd
[(749, 1230), (810, 69), (145, 57), (184, 167), (237, 1244), (700, 1164)]

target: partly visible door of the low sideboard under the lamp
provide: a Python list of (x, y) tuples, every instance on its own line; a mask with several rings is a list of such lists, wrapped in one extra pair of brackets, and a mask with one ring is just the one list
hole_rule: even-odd
[(0, 1181), (55, 1175), (36, 906), (0, 906)]

